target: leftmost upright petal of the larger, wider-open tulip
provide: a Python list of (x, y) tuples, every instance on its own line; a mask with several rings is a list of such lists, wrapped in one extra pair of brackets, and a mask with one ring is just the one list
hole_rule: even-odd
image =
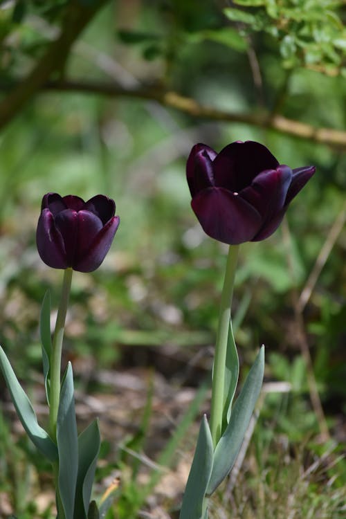
[(192, 148), (186, 163), (186, 174), (192, 197), (199, 191), (214, 185), (212, 161), (216, 156), (214, 149), (205, 144), (196, 144)]

